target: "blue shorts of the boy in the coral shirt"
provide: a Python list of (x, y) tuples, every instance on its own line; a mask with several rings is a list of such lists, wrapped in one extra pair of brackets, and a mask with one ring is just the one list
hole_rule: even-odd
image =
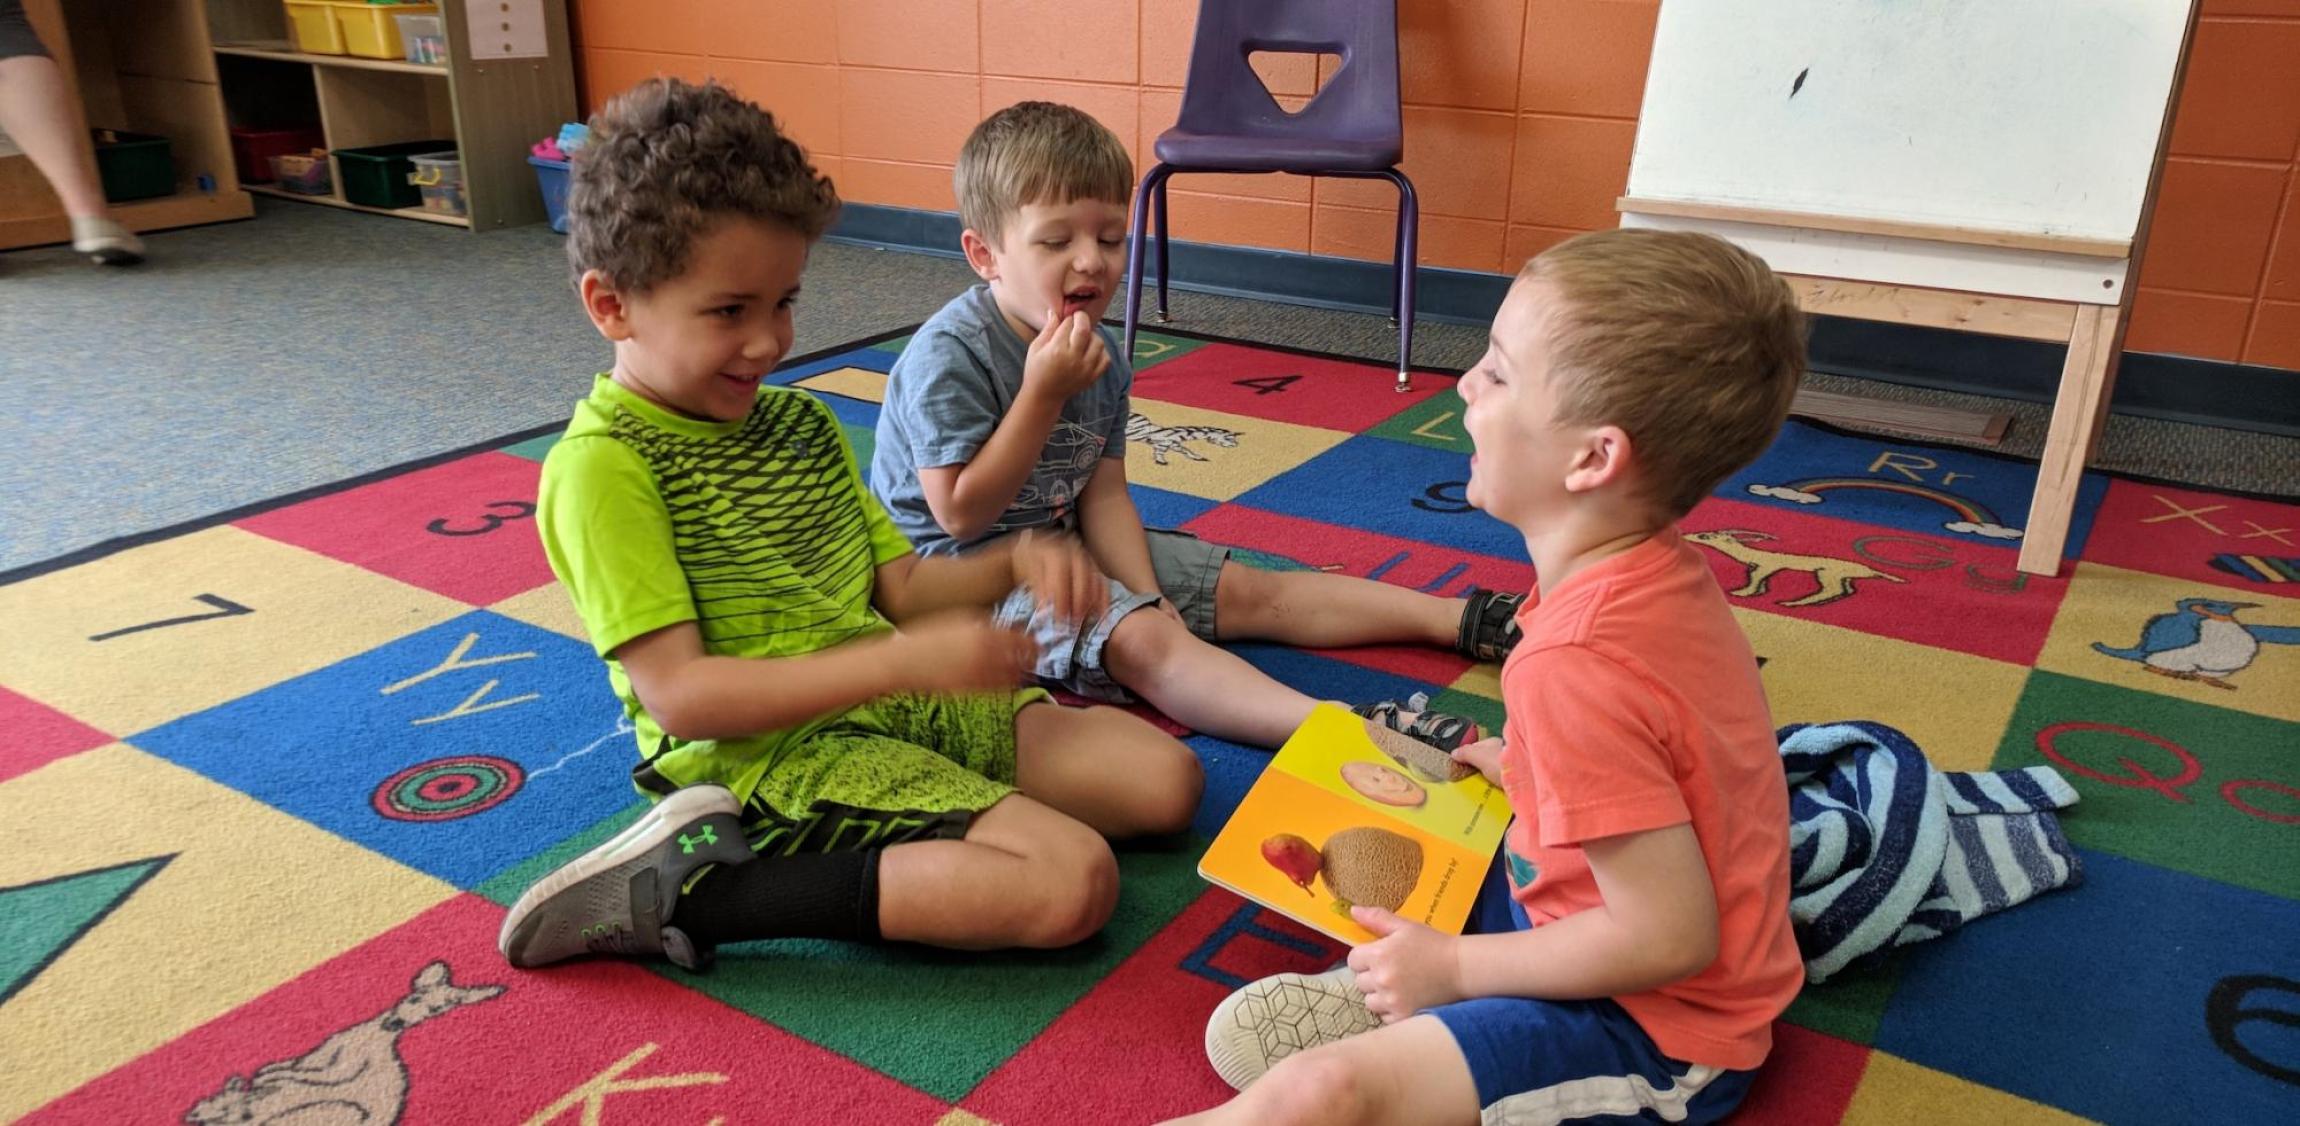
[[(1495, 857), (1465, 933), (1527, 931)], [(1718, 1121), (1741, 1105), (1755, 1071), (1723, 1071), (1661, 1055), (1610, 1000), (1477, 997), (1428, 1009), (1454, 1034), (1488, 1124)]]

